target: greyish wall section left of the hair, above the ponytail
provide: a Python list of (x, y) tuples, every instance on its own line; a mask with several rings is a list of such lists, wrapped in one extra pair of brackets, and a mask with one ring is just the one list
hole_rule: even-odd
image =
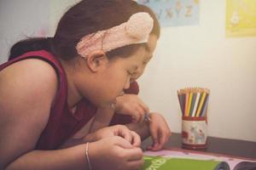
[(0, 64), (9, 48), (26, 37), (49, 37), (57, 22), (79, 0), (0, 0)]

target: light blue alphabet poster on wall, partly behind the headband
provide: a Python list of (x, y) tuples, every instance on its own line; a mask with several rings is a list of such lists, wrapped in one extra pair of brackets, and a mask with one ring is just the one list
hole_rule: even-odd
[(160, 26), (193, 26), (199, 24), (200, 0), (137, 0), (153, 9)]

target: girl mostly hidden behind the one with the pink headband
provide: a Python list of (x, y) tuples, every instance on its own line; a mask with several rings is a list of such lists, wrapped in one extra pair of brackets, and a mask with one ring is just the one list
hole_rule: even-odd
[[(150, 13), (150, 11), (148, 11)], [(153, 15), (154, 16), (154, 15)], [(157, 20), (154, 21), (157, 23)], [(138, 94), (138, 77), (142, 76), (143, 71), (149, 60), (153, 57), (154, 48), (159, 38), (158, 31), (152, 31), (147, 44), (147, 54), (144, 56), (143, 63), (139, 65), (137, 71), (131, 76), (131, 86), (125, 90), (125, 95), (119, 96), (113, 109), (99, 109), (91, 125), (91, 132), (109, 124), (125, 124), (131, 130), (136, 131), (142, 139), (152, 136), (153, 144), (148, 146), (148, 150), (161, 150), (171, 136), (171, 131), (164, 119), (159, 113), (150, 112), (148, 105), (145, 105)], [(105, 114), (103, 115), (102, 112)], [(115, 114), (114, 114), (115, 112)], [(151, 122), (144, 122), (144, 113), (150, 112)], [(135, 123), (136, 122), (136, 123)]]

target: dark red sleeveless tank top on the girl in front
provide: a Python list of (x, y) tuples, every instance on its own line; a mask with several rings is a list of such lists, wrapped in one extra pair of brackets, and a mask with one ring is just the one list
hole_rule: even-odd
[(67, 105), (67, 77), (65, 71), (61, 62), (47, 51), (40, 50), (22, 54), (0, 65), (0, 71), (22, 59), (42, 59), (55, 68), (58, 76), (59, 85), (55, 102), (51, 107), (48, 123), (35, 148), (36, 150), (55, 150), (89, 122), (90, 118), (96, 113), (96, 106), (83, 99), (77, 105), (76, 111), (74, 113), (71, 111)]

